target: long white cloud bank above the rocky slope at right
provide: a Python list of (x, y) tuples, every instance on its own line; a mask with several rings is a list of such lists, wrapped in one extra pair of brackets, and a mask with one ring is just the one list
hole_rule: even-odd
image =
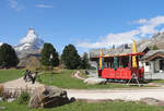
[(96, 42), (79, 42), (78, 47), (82, 48), (106, 48), (112, 45), (122, 45), (122, 44), (130, 44), (132, 42), (132, 39), (139, 40), (144, 37), (152, 36), (153, 34), (157, 32), (164, 30), (156, 29), (157, 26), (161, 26), (164, 24), (164, 16), (156, 16), (150, 20), (140, 18), (139, 21), (136, 21), (137, 24), (140, 24), (140, 26), (136, 27), (136, 29), (118, 33), (118, 34), (108, 34), (105, 37), (103, 37), (99, 41)]

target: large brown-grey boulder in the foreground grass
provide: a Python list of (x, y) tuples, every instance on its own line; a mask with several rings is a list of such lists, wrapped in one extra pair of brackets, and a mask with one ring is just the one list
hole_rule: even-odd
[(67, 91), (54, 86), (42, 86), (34, 90), (30, 108), (54, 108), (69, 102)]

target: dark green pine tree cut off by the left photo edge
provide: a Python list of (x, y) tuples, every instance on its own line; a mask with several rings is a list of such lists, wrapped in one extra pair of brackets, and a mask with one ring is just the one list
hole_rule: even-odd
[(15, 50), (8, 44), (0, 47), (0, 65), (4, 67), (16, 66), (19, 58)]

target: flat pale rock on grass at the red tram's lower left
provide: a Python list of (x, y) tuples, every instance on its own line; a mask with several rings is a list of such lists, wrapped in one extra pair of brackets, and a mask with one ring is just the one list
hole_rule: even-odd
[(105, 84), (106, 79), (105, 78), (91, 77), (91, 78), (84, 79), (84, 83), (89, 84), (89, 85), (101, 85), (101, 84)]

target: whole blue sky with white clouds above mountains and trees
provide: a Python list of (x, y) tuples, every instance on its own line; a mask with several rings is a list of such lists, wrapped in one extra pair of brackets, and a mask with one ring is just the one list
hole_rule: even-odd
[(1, 0), (0, 41), (17, 45), (30, 27), (59, 52), (131, 42), (164, 30), (164, 0)]

